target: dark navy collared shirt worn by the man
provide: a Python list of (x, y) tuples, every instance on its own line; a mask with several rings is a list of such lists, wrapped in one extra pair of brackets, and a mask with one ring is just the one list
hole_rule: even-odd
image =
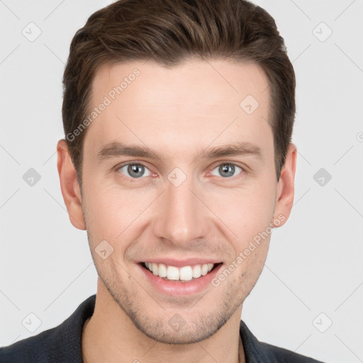
[[(83, 301), (72, 315), (55, 328), (0, 348), (0, 363), (83, 363), (82, 330), (94, 313), (96, 295)], [(240, 321), (246, 363), (321, 363), (274, 345), (259, 342)]]

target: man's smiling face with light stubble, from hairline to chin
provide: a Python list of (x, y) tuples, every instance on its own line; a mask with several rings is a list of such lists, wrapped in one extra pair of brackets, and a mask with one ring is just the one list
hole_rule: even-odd
[(102, 284), (145, 335), (206, 339), (242, 308), (288, 214), (267, 78), (226, 60), (128, 62), (92, 90), (106, 106), (84, 140), (82, 210)]

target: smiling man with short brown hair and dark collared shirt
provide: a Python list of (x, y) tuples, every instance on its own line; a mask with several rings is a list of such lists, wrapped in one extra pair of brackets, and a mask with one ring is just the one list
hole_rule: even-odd
[(62, 195), (96, 296), (1, 362), (317, 362), (240, 320), (294, 201), (294, 69), (242, 0), (121, 0), (77, 31)]

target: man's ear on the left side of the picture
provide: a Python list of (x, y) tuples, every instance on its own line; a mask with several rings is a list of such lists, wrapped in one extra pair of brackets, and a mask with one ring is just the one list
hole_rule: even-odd
[(82, 210), (82, 196), (67, 143), (64, 139), (57, 143), (57, 169), (60, 175), (60, 189), (67, 207), (69, 220), (79, 230), (86, 230)]

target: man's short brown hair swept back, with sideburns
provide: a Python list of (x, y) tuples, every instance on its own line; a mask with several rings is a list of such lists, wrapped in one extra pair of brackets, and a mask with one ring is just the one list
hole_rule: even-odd
[(294, 126), (296, 80), (272, 16), (245, 0), (119, 0), (93, 13), (77, 30), (65, 67), (62, 118), (81, 188), (87, 128), (77, 137), (67, 135), (89, 114), (96, 70), (130, 60), (172, 67), (191, 57), (262, 67), (269, 82), (268, 122), (279, 180)]

